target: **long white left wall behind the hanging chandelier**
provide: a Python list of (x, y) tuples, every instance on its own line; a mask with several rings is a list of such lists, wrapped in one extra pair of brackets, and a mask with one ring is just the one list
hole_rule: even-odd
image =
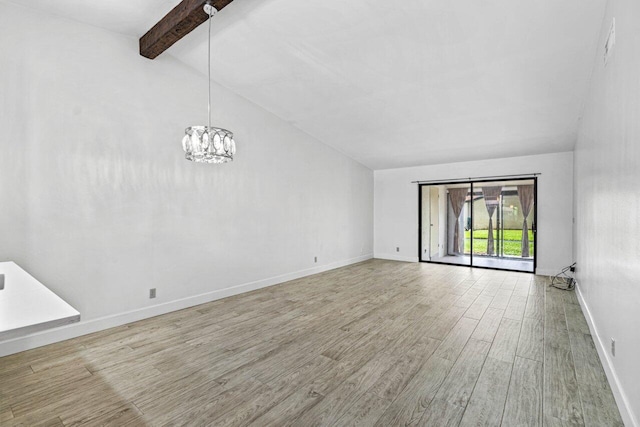
[(77, 331), (371, 256), (371, 170), (217, 85), (213, 124), (234, 131), (236, 160), (188, 162), (206, 77), (2, 2), (0, 28), (0, 260), (93, 321)]

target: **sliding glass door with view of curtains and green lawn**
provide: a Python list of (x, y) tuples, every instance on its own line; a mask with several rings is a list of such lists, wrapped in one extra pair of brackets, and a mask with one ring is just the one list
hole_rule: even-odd
[(420, 260), (535, 271), (536, 179), (420, 185)]

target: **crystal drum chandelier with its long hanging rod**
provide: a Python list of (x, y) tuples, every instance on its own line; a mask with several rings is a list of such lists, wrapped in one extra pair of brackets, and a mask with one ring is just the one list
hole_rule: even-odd
[(233, 161), (236, 153), (236, 142), (233, 133), (222, 128), (211, 126), (211, 18), (217, 10), (210, 4), (204, 6), (204, 11), (209, 16), (209, 42), (208, 42), (208, 76), (209, 76), (209, 103), (208, 126), (190, 126), (185, 129), (182, 138), (184, 157), (196, 163), (227, 163)]

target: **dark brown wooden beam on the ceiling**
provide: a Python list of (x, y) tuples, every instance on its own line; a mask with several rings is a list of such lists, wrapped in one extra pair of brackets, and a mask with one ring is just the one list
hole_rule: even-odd
[(183, 0), (167, 13), (147, 33), (140, 37), (140, 55), (154, 59), (175, 42), (206, 22), (204, 5), (208, 2), (218, 10), (233, 0)]

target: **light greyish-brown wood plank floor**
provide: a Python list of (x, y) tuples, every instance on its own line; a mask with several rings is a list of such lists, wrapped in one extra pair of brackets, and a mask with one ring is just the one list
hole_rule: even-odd
[(372, 260), (0, 359), (0, 425), (619, 426), (573, 292)]

